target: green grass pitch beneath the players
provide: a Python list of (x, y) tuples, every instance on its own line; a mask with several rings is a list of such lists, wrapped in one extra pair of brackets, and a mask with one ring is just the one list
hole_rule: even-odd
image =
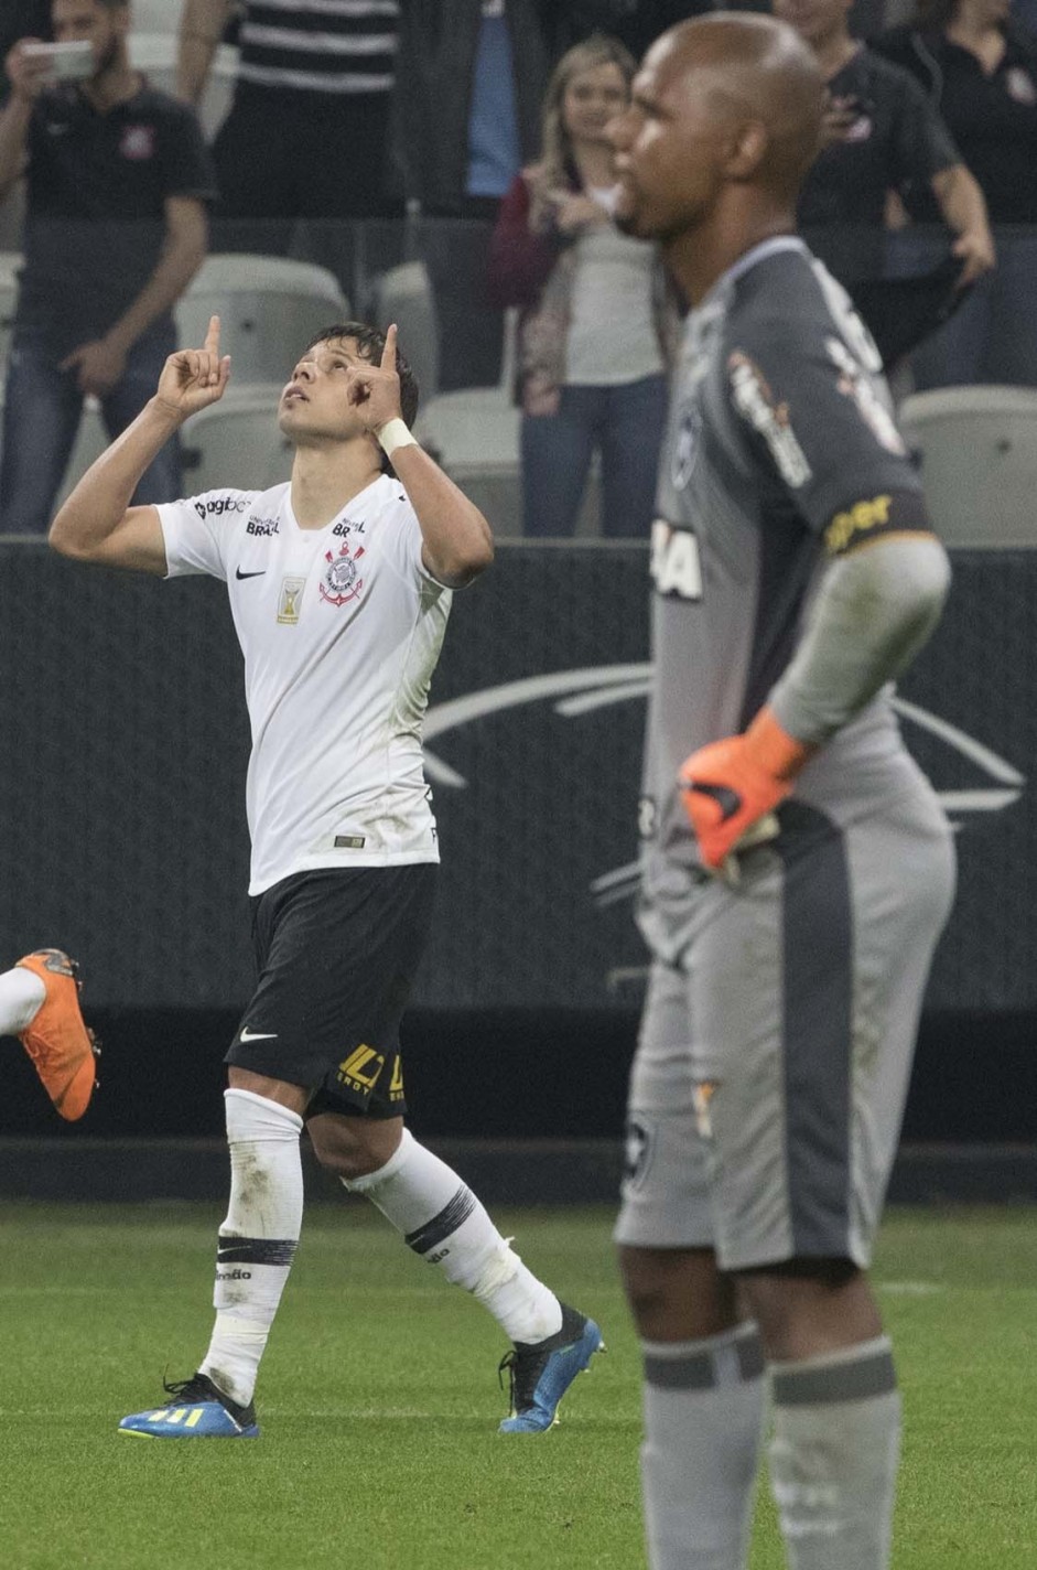
[[(0, 1217), (6, 1570), (510, 1570), (645, 1564), (639, 1358), (602, 1210), (504, 1214), (601, 1322), (559, 1429), (496, 1433), (507, 1344), (358, 1204), (314, 1207), (264, 1363), (262, 1438), (116, 1435), (209, 1338), (220, 1214)], [(1037, 1212), (899, 1212), (875, 1281), (907, 1408), (897, 1570), (1037, 1565)], [(761, 1490), (751, 1570), (783, 1565)]]

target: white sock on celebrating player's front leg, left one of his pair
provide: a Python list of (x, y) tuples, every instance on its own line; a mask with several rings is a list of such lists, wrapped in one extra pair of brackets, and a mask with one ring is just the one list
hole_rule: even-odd
[(248, 1090), (224, 1091), (231, 1207), (216, 1242), (216, 1324), (201, 1364), (246, 1407), (303, 1226), (303, 1119)]

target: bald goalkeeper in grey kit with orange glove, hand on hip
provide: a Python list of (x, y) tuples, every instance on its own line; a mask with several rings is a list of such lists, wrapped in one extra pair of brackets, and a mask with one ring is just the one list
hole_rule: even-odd
[(885, 1570), (901, 1407), (868, 1284), (951, 831), (891, 681), (949, 582), (874, 344), (795, 236), (822, 83), (781, 24), (664, 35), (618, 221), (690, 305), (653, 531), (653, 951), (617, 1223), (653, 1570), (744, 1570), (764, 1411), (792, 1570)]

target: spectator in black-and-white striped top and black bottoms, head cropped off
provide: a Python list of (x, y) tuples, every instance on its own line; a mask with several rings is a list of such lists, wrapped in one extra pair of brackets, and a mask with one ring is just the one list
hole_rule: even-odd
[(298, 218), (388, 214), (398, 11), (397, 0), (185, 0), (185, 104), (201, 100), (216, 46), (240, 16), (234, 99), (213, 143), (220, 248), (286, 251)]

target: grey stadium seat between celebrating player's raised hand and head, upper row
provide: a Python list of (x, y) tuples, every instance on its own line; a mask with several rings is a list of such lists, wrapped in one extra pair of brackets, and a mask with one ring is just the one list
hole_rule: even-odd
[(306, 342), (348, 316), (334, 273), (281, 256), (209, 256), (176, 308), (180, 342), (198, 347), (213, 311), (238, 383), (287, 382)]

